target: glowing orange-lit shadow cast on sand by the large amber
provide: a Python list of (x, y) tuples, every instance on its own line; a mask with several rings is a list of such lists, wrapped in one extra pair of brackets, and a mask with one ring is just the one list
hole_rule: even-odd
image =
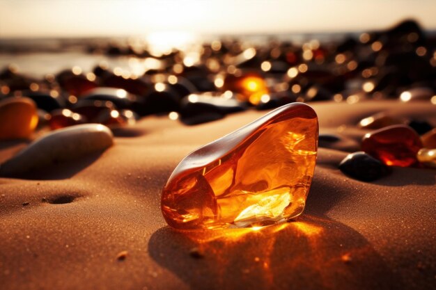
[(261, 228), (164, 228), (149, 251), (193, 289), (390, 289), (400, 281), (354, 229), (307, 215)]

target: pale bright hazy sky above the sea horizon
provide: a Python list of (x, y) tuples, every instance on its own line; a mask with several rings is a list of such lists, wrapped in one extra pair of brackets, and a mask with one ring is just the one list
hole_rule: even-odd
[(405, 18), (436, 29), (435, 0), (0, 0), (0, 38), (365, 31)]

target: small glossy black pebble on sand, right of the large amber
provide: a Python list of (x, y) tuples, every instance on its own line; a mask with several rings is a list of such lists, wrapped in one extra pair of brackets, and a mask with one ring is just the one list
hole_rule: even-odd
[(365, 152), (348, 154), (339, 164), (339, 169), (346, 175), (363, 182), (372, 182), (389, 173), (387, 166)]

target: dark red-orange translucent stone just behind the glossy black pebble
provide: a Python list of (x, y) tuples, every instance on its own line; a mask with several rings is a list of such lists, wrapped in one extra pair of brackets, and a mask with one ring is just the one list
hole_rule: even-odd
[(416, 132), (405, 125), (394, 125), (364, 136), (361, 149), (387, 166), (419, 166), (416, 153), (422, 148)]

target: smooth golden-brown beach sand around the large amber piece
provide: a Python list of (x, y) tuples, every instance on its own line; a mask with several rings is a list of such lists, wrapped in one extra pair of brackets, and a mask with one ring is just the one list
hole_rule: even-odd
[[(435, 289), (436, 170), (394, 168), (367, 183), (337, 164), (359, 149), (361, 118), (435, 122), (436, 106), (311, 105), (320, 133), (349, 142), (319, 149), (306, 209), (290, 223), (182, 233), (159, 209), (183, 156), (265, 112), (194, 127), (148, 117), (115, 131), (102, 154), (0, 178), (0, 289)], [(0, 161), (24, 145), (1, 143)]]

